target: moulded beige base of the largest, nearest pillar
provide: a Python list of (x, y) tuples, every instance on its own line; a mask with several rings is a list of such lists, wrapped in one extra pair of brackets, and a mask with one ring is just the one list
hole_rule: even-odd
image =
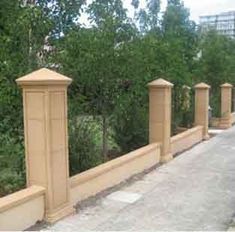
[(46, 222), (48, 222), (49, 224), (53, 224), (55, 222), (57, 222), (58, 220), (67, 217), (71, 214), (75, 214), (76, 210), (75, 208), (73, 208), (72, 206), (65, 206), (62, 209), (59, 209), (58, 211), (54, 212), (54, 213), (46, 213)]

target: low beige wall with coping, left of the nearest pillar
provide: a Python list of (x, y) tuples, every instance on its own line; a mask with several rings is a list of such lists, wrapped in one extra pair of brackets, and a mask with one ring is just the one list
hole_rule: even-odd
[(25, 230), (44, 218), (45, 189), (32, 186), (0, 198), (0, 231)]

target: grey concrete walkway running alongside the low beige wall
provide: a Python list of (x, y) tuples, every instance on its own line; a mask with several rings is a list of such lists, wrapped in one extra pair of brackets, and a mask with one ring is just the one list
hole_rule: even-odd
[(227, 230), (235, 213), (235, 127), (51, 230)]

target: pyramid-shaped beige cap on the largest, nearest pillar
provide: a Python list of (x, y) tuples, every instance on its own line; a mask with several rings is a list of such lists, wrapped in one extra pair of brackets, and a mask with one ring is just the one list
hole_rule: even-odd
[(51, 71), (47, 68), (42, 68), (16, 79), (16, 83), (20, 86), (32, 85), (69, 85), (72, 82), (71, 78)]

